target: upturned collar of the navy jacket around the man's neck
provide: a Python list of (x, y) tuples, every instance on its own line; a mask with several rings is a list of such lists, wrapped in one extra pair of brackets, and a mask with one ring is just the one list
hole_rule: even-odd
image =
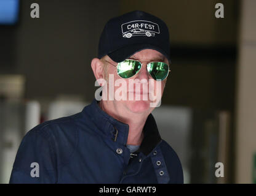
[[(129, 125), (121, 123), (117, 119), (114, 119), (112, 116), (105, 113), (105, 111), (99, 107), (96, 99), (94, 99), (90, 105), (84, 107), (82, 114), (85, 115), (84, 119), (89, 116), (95, 126), (98, 127), (101, 134), (111, 138), (113, 142), (126, 146)], [(146, 119), (145, 126), (143, 127), (143, 133), (144, 138), (138, 151), (147, 156), (161, 141), (161, 136), (152, 114), (148, 115), (148, 118)]]

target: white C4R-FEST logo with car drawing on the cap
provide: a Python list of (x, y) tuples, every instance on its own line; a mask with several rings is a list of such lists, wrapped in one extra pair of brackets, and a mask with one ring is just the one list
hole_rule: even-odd
[(121, 26), (122, 37), (130, 38), (132, 36), (147, 36), (153, 37), (159, 34), (159, 26), (156, 23), (145, 20), (135, 20), (124, 23)]

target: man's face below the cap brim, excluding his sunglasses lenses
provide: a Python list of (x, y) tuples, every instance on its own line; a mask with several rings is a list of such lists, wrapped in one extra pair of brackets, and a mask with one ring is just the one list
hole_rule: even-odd
[[(118, 63), (112, 61), (108, 56), (105, 57), (105, 80), (108, 83), (107, 94), (109, 96), (111, 92), (110, 85), (112, 85), (114, 89), (114, 100), (112, 101), (115, 108), (123, 108), (132, 113), (151, 113), (154, 107), (158, 105), (157, 102), (161, 101), (166, 79), (162, 81), (154, 80), (148, 73), (146, 64), (159, 61), (169, 64), (168, 60), (158, 51), (151, 49), (138, 51), (128, 59), (142, 62), (142, 68), (137, 75), (124, 79), (119, 77), (117, 73), (116, 66)], [(114, 85), (113, 83), (111, 84), (111, 77), (113, 78)], [(123, 92), (126, 93), (123, 94)], [(116, 100), (116, 96), (126, 97), (126, 99)], [(152, 107), (152, 104), (154, 107)]]

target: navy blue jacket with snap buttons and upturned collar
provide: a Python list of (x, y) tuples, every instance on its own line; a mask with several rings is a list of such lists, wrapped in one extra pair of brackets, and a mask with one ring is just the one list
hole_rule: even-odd
[(151, 114), (132, 158), (128, 132), (94, 100), (75, 115), (31, 129), (18, 148), (10, 183), (183, 183), (180, 160)]

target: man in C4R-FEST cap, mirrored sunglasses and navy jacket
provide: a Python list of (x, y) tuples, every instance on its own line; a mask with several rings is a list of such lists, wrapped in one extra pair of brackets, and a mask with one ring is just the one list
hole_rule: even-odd
[(30, 130), (10, 183), (183, 183), (180, 160), (151, 115), (169, 63), (162, 20), (134, 11), (108, 21), (91, 62), (100, 99)]

